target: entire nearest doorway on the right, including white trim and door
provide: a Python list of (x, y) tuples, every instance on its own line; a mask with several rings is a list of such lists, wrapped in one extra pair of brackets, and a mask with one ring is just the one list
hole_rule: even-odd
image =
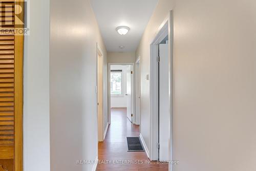
[(172, 160), (172, 30), (170, 12), (151, 43), (151, 160)]

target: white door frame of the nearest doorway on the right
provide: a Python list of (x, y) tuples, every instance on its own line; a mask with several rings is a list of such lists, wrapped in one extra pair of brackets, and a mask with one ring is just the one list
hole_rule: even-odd
[[(173, 15), (172, 11), (166, 16), (159, 26), (150, 45), (150, 159), (158, 160), (158, 45), (168, 35), (169, 40), (169, 160), (172, 160), (172, 142), (173, 142)], [(169, 165), (172, 170), (172, 165)]]

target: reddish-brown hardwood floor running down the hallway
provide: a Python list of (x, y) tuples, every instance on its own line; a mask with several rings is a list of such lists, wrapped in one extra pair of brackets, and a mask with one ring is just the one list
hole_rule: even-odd
[[(145, 152), (127, 152), (126, 137), (139, 136), (140, 128), (139, 125), (132, 124), (127, 119), (126, 109), (111, 109), (111, 122), (104, 142), (98, 144), (99, 161), (108, 162), (108, 164), (99, 163), (96, 170), (168, 170), (168, 164), (148, 163), (150, 160)], [(125, 163), (128, 161), (142, 162), (142, 164)]]

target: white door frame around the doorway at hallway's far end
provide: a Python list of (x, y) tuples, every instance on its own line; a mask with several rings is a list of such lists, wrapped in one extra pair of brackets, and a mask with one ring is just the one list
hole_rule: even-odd
[(133, 117), (132, 121), (135, 123), (135, 63), (134, 62), (109, 62), (108, 63), (108, 106), (109, 106), (109, 114), (108, 114), (108, 121), (109, 124), (111, 124), (111, 91), (110, 91), (110, 73), (111, 73), (111, 66), (132, 66), (132, 112), (133, 112)]

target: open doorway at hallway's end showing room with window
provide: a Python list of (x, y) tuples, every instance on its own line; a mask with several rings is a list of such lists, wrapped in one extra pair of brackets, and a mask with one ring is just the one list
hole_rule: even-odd
[[(134, 64), (110, 64), (109, 67), (110, 110), (125, 111), (127, 119), (129, 119), (130, 122), (134, 123)], [(111, 118), (109, 118), (109, 120), (111, 120)]]

